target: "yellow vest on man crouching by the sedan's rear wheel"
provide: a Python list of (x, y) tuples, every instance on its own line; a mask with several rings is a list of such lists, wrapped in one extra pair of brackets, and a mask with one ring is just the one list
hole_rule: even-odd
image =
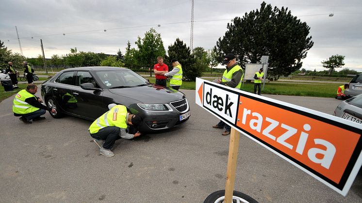
[(17, 114), (27, 114), (39, 110), (39, 108), (25, 102), (25, 99), (31, 97), (37, 98), (34, 94), (31, 94), (26, 90), (19, 91), (13, 100), (13, 112)]

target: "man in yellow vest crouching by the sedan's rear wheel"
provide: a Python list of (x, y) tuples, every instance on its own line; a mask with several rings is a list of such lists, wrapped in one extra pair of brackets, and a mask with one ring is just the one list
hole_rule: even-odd
[(25, 90), (20, 90), (13, 100), (13, 112), (15, 116), (21, 116), (19, 119), (25, 124), (32, 124), (32, 121), (44, 120), (45, 117), (40, 117), (45, 114), (45, 110), (52, 113), (55, 109), (42, 105), (43, 100), (34, 94), (38, 87), (34, 84), (29, 84)]

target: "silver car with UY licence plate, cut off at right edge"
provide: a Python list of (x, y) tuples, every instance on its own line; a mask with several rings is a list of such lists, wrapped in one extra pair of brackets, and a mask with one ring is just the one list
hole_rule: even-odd
[(333, 115), (362, 124), (362, 94), (341, 102)]

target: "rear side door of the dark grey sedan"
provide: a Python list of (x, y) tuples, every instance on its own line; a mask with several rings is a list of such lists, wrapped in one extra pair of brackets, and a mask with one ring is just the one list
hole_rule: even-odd
[(59, 107), (70, 113), (67, 105), (67, 97), (71, 95), (75, 87), (75, 71), (66, 71), (55, 79), (52, 87), (52, 94)]

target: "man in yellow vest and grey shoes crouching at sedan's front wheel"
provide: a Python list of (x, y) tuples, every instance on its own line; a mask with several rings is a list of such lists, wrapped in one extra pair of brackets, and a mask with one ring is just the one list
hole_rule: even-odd
[(89, 127), (89, 133), (94, 142), (99, 147), (99, 153), (104, 156), (115, 156), (111, 151), (115, 141), (123, 139), (132, 139), (141, 135), (136, 132), (134, 135), (126, 132), (127, 124), (137, 126), (141, 121), (141, 117), (127, 112), (127, 108), (123, 105), (108, 105), (109, 111), (105, 112), (96, 119)]

